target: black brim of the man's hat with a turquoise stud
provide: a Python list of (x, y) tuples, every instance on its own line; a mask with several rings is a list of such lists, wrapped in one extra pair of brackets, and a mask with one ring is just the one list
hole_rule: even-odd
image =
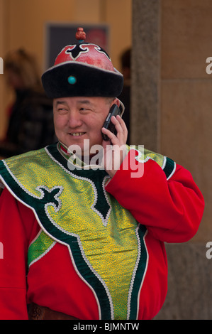
[[(69, 80), (69, 77), (74, 78)], [(123, 89), (123, 75), (80, 62), (55, 65), (42, 75), (48, 97), (118, 97)]]

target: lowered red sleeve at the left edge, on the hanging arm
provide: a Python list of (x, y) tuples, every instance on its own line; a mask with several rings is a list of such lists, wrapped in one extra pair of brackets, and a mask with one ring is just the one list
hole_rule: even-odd
[[(26, 262), (35, 217), (6, 188), (0, 197), (0, 319), (28, 319)], [(35, 227), (34, 227), (35, 228)]]

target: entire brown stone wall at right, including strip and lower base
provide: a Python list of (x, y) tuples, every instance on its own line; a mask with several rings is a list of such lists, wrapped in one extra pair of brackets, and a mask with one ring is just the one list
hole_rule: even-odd
[(155, 319), (212, 318), (211, 16), (211, 0), (133, 0), (132, 142), (189, 169), (206, 203), (196, 236), (165, 244), (168, 291)]

